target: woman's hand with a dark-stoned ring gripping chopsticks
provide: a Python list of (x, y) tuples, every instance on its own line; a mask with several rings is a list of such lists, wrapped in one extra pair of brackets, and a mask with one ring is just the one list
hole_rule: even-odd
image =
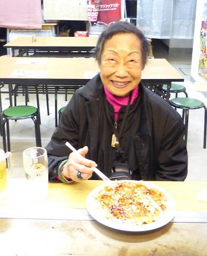
[[(85, 156), (88, 153), (88, 147), (85, 146), (77, 150), (77, 152), (72, 152), (69, 155), (68, 162), (64, 165), (63, 175), (66, 178), (70, 178), (73, 181), (81, 181), (89, 179), (93, 174), (93, 168), (97, 166), (92, 160), (86, 159)], [(79, 178), (77, 174), (79, 173)]]

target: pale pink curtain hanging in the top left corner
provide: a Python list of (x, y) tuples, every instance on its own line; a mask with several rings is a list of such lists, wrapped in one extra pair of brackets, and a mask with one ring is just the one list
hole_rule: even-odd
[(41, 29), (41, 0), (0, 0), (0, 27)]

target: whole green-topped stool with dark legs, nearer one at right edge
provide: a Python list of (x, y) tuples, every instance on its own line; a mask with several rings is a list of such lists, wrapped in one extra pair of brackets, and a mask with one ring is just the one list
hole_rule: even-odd
[(170, 100), (170, 105), (174, 108), (183, 109), (182, 119), (186, 126), (185, 130), (185, 143), (187, 144), (187, 127), (188, 127), (188, 118), (189, 118), (189, 109), (200, 109), (204, 108), (204, 134), (203, 134), (203, 148), (206, 148), (206, 118), (207, 118), (207, 109), (203, 102), (200, 100), (189, 98), (189, 97), (177, 97)]

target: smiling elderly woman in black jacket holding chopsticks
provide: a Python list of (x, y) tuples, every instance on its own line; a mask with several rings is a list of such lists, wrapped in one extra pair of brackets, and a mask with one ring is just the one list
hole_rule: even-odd
[(99, 179), (94, 166), (111, 179), (185, 180), (182, 118), (141, 82), (148, 50), (130, 23), (114, 23), (101, 34), (100, 73), (76, 91), (46, 147), (50, 181)]

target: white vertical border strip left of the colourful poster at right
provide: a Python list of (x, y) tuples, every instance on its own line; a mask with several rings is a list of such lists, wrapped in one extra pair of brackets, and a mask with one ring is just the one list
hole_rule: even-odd
[(200, 29), (203, 17), (203, 8), (205, 0), (197, 0), (196, 7), (196, 21), (195, 21), (195, 31), (193, 39), (193, 52), (192, 52), (192, 63), (191, 63), (191, 72), (190, 75), (195, 81), (205, 81), (198, 74), (199, 67), (199, 56), (200, 56)]

